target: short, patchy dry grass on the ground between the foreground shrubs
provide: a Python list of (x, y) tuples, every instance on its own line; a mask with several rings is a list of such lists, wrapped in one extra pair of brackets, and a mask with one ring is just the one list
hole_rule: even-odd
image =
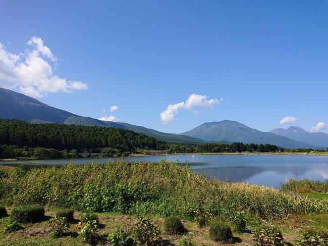
[[(48, 218), (54, 217), (55, 210), (46, 211)], [(4, 232), (4, 226), (9, 222), (9, 217), (0, 219), (0, 245), (33, 245), (33, 246), (50, 246), (50, 245), (89, 245), (84, 242), (81, 236), (77, 235), (78, 229), (76, 228), (81, 213), (74, 214), (75, 222), (71, 224), (70, 233), (66, 236), (53, 238), (50, 233), (50, 225), (47, 221), (40, 223), (27, 223), (23, 224), (23, 230), (6, 233)], [(98, 213), (100, 223), (100, 234), (107, 235), (113, 233), (116, 228), (132, 228), (138, 221), (136, 215), (119, 215), (112, 213)], [(328, 214), (318, 215), (301, 215), (301, 216), (289, 216), (282, 220), (265, 221), (259, 220), (258, 217), (252, 216), (251, 221), (248, 221), (248, 228), (256, 230), (261, 226), (273, 224), (282, 230), (283, 237), (287, 242), (296, 245), (295, 240), (300, 238), (299, 231), (313, 228), (317, 230), (326, 230), (328, 228)], [(258, 221), (261, 221), (260, 223)], [(183, 238), (188, 239), (194, 245), (226, 245), (224, 243), (216, 243), (210, 239), (209, 226), (199, 228), (195, 221), (182, 220), (187, 233), (178, 235), (169, 235), (163, 230), (165, 225), (165, 219), (161, 217), (153, 217), (153, 223), (162, 228), (161, 237), (168, 245), (181, 245)], [(237, 233), (233, 232), (235, 237), (234, 245), (253, 245), (252, 234), (250, 233)], [(101, 244), (101, 243), (100, 243)]]

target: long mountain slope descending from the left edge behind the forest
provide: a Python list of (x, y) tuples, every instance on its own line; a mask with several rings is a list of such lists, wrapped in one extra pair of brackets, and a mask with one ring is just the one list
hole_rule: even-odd
[(50, 107), (30, 96), (4, 88), (0, 88), (0, 106), (0, 118), (3, 119), (18, 119), (31, 123), (117, 127), (144, 133), (145, 135), (169, 143), (199, 144), (205, 142), (204, 140), (190, 136), (164, 133), (143, 126), (135, 126), (121, 122), (100, 121), (90, 117), (75, 115), (65, 110)]

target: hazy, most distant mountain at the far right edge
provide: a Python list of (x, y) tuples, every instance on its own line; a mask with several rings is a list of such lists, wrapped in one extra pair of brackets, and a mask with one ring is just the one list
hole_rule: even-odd
[(308, 132), (298, 126), (291, 126), (288, 129), (277, 128), (270, 132), (306, 144), (328, 147), (328, 134), (324, 132)]

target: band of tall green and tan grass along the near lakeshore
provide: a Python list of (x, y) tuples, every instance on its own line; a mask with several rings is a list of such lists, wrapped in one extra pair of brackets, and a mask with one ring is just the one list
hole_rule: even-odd
[[(0, 204), (41, 204), (96, 212), (178, 215), (229, 215), (262, 218), (328, 211), (327, 204), (294, 198), (274, 188), (222, 183), (176, 163), (126, 161), (33, 168), (21, 174), (0, 167)], [(15, 168), (16, 170), (16, 168)]]

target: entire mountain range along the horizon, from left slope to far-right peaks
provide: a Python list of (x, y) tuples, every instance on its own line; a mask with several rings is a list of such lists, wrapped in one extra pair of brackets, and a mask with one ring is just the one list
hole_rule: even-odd
[[(100, 121), (90, 117), (82, 117), (64, 110), (50, 107), (32, 97), (0, 88), (0, 118), (19, 119), (31, 123), (60, 123), (84, 126), (117, 127), (164, 140), (169, 143), (199, 144), (205, 142), (243, 142), (270, 143), (288, 149), (311, 148), (325, 149), (328, 146), (328, 134), (310, 133), (301, 128), (284, 130), (282, 128), (271, 132), (262, 132), (237, 121), (224, 120), (207, 122), (190, 131), (180, 134), (165, 133), (143, 126), (122, 122)], [(295, 130), (295, 129), (294, 129)]]

